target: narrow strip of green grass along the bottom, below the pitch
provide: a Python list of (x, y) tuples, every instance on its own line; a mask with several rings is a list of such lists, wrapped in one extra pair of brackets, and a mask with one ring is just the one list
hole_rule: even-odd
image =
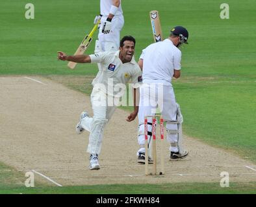
[(234, 183), (221, 188), (219, 183), (112, 184), (97, 186), (34, 187), (0, 189), (0, 193), (22, 194), (255, 194), (255, 183)]

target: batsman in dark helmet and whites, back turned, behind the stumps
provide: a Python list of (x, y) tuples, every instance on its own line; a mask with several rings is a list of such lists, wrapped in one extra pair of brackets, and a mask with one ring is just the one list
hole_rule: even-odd
[[(183, 43), (188, 43), (188, 31), (177, 26), (172, 28), (169, 38), (153, 43), (142, 50), (138, 65), (142, 69), (142, 86), (140, 87), (140, 104), (138, 112), (139, 163), (145, 163), (144, 118), (157, 113), (166, 121), (167, 140), (170, 142), (170, 160), (179, 160), (188, 156), (182, 147), (183, 116), (179, 104), (175, 101), (172, 77), (181, 75), (181, 50)], [(152, 163), (151, 136), (152, 118), (147, 118), (147, 135), (149, 146), (149, 163)]]

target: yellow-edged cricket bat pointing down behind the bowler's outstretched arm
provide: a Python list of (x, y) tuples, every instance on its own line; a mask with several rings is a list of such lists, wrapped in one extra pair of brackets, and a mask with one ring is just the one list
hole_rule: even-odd
[[(94, 35), (94, 32), (97, 30), (97, 27), (100, 23), (100, 19), (97, 21), (96, 25), (94, 25), (94, 28), (92, 28), (92, 31), (89, 34), (86, 34), (86, 36), (84, 37), (83, 41), (81, 42), (81, 44), (79, 45), (77, 51), (75, 52), (75, 55), (78, 54), (84, 54), (84, 51), (88, 48), (88, 46), (90, 45), (91, 41), (92, 41), (92, 36)], [(75, 65), (77, 65), (77, 63), (74, 63), (72, 61), (68, 62), (68, 67), (70, 69), (74, 69)]]

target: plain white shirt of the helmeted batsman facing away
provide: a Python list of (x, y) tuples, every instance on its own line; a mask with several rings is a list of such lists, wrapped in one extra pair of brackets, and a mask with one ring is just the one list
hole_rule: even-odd
[(173, 69), (181, 69), (181, 50), (170, 39), (153, 43), (142, 50), (143, 83), (172, 85)]

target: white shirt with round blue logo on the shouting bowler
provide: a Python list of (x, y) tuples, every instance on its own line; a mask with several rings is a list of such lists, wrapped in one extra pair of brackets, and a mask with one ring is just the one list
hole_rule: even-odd
[[(121, 87), (124, 87), (126, 83), (139, 83), (142, 77), (142, 71), (134, 60), (134, 56), (131, 62), (122, 63), (119, 54), (120, 51), (118, 50), (90, 55), (92, 63), (101, 64), (92, 85), (96, 86), (97, 84), (101, 91), (116, 97), (120, 97)], [(103, 84), (103, 87), (99, 83)]]

